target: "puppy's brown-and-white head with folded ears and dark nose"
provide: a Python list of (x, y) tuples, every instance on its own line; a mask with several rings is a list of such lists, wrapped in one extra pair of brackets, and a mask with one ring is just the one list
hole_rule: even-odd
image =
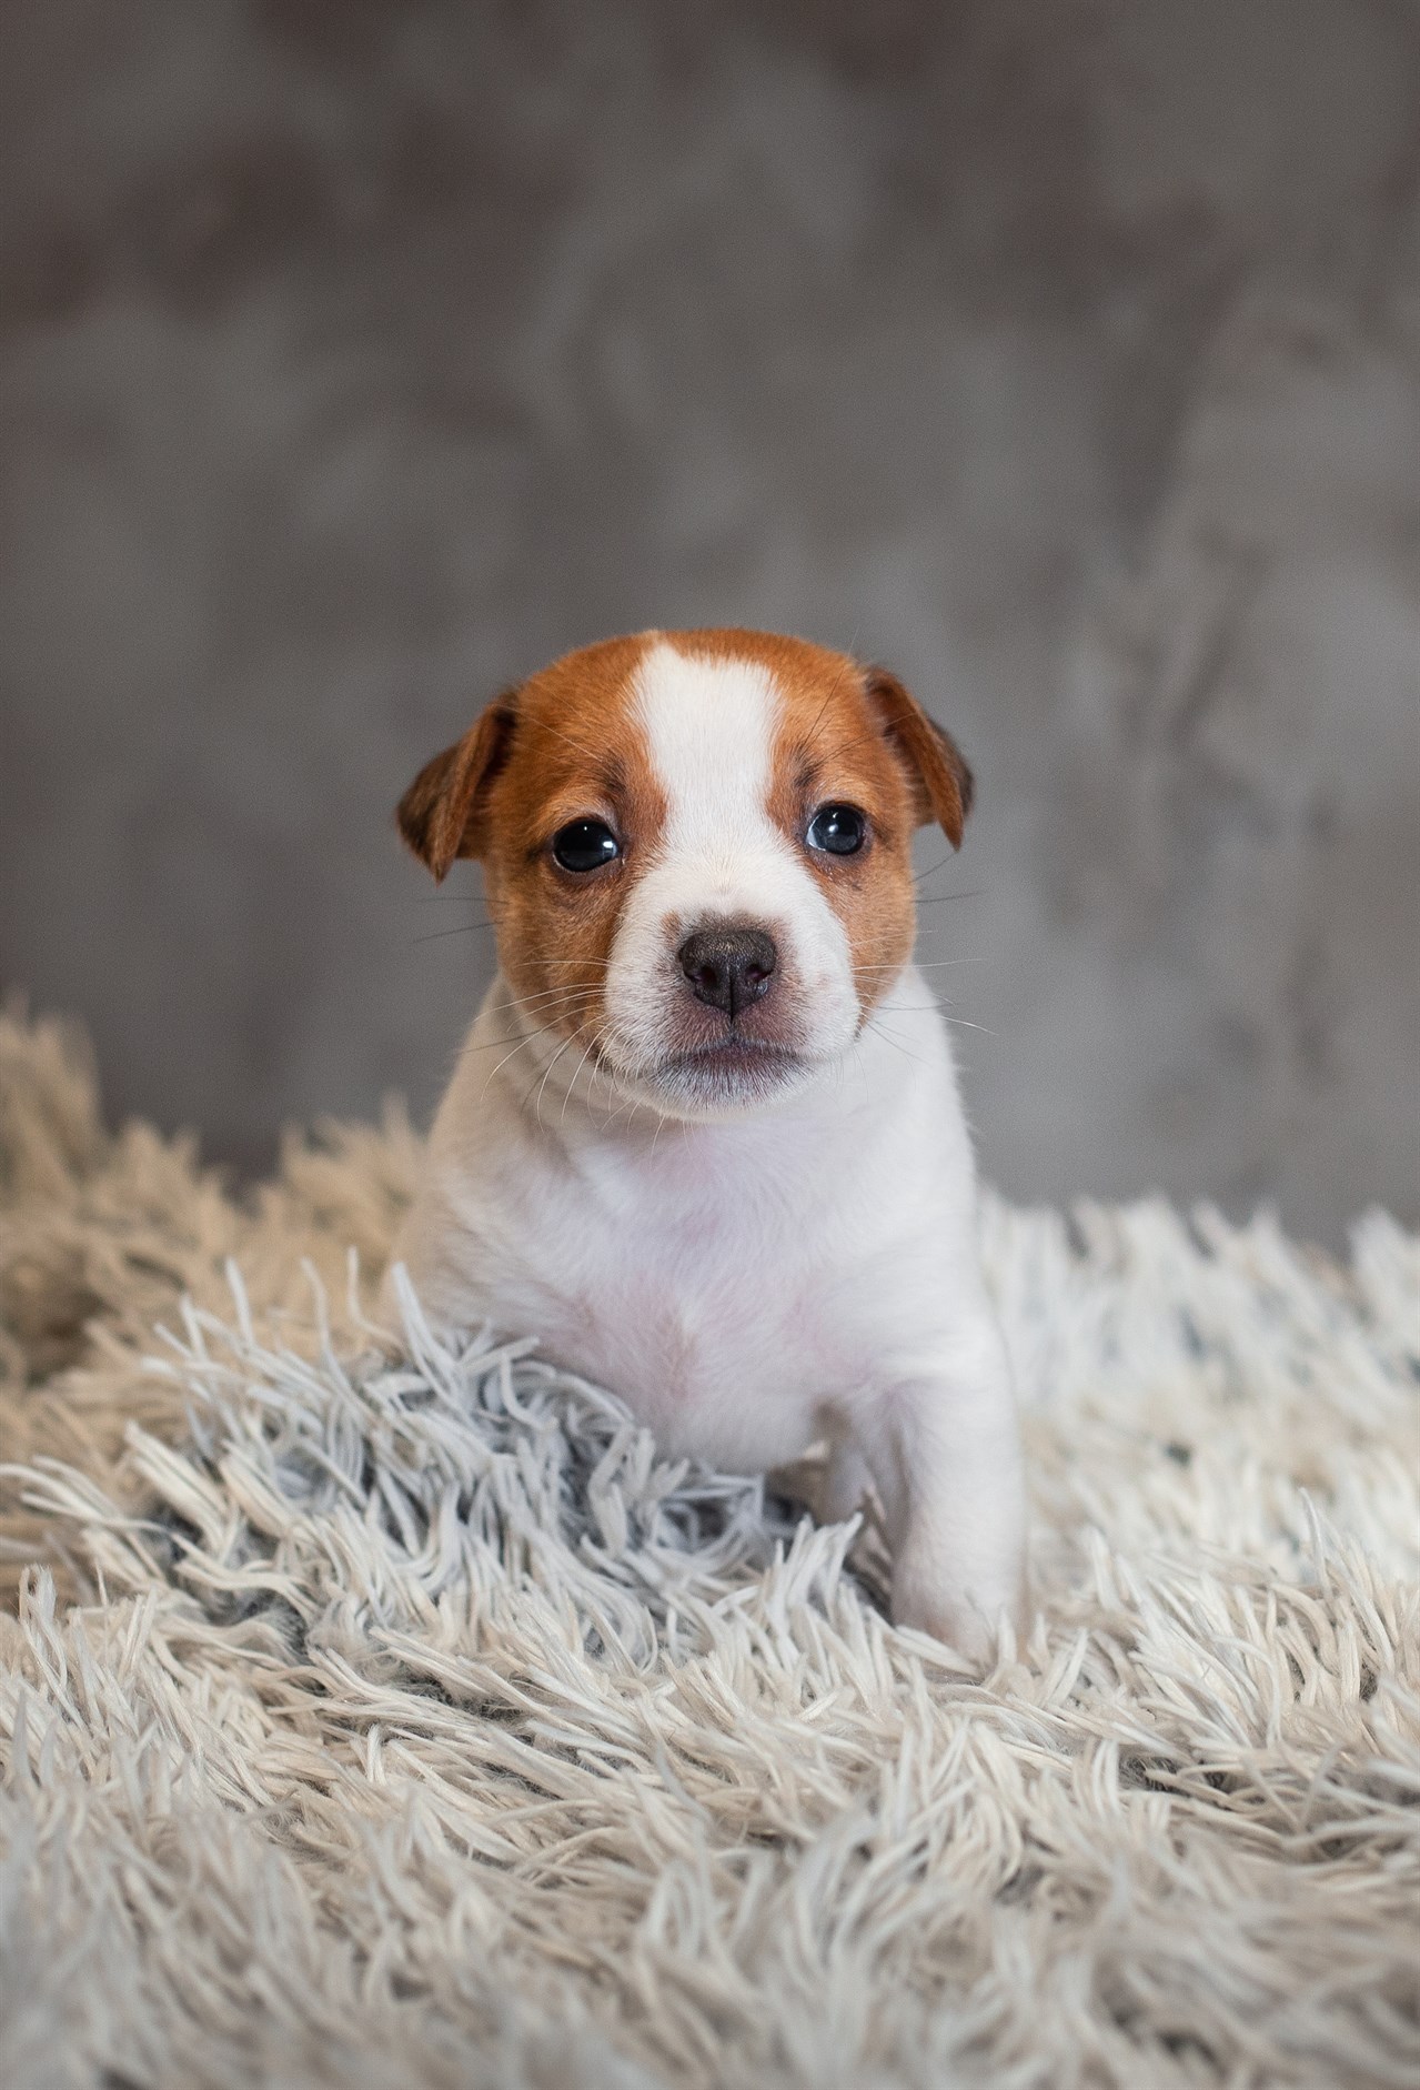
[(727, 1116), (831, 1066), (913, 951), (913, 830), (971, 773), (881, 669), (758, 631), (555, 660), (405, 792), (443, 878), (484, 865), (528, 1026), (620, 1091)]

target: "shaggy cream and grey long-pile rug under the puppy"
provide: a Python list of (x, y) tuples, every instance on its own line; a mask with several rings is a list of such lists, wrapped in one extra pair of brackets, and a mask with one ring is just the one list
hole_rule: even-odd
[(1410, 2086), (1420, 1256), (984, 1241), (1040, 1616), (370, 1302), (418, 1141), (236, 1200), (0, 1026), (0, 2080)]

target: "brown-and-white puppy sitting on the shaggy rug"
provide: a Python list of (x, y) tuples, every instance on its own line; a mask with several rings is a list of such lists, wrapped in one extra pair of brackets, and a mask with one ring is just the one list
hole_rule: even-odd
[(501, 970), (395, 1258), (672, 1457), (827, 1438), (894, 1618), (979, 1662), (1021, 1622), (1021, 1450), (910, 869), (969, 807), (902, 683), (802, 640), (643, 631), (501, 696), (399, 805), (434, 878), (480, 859)]

